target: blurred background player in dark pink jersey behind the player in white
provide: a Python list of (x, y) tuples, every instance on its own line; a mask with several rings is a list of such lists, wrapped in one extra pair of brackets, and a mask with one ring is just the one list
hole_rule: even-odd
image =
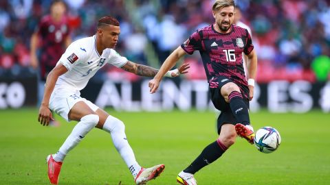
[[(40, 68), (38, 103), (43, 98), (43, 89), (48, 73), (56, 66), (58, 59), (72, 42), (65, 11), (66, 5), (63, 1), (52, 1), (50, 14), (41, 19), (31, 37), (31, 66), (34, 69), (37, 69), (38, 66)], [(38, 48), (40, 49), (39, 57), (37, 56)]]

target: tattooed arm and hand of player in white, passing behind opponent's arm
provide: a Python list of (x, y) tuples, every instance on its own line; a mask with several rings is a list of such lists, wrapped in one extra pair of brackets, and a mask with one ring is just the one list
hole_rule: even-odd
[[(187, 69), (189, 69), (189, 67), (189, 64), (181, 64), (178, 69), (168, 71), (168, 77), (177, 77), (180, 74), (188, 73)], [(131, 61), (127, 61), (126, 64), (122, 66), (122, 69), (144, 77), (154, 77), (158, 73), (158, 69), (154, 69), (151, 66), (136, 64)]]

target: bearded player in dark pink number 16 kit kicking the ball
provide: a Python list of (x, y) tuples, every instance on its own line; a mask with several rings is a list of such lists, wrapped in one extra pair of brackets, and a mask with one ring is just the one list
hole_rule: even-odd
[[(253, 97), (257, 58), (248, 30), (232, 24), (234, 13), (234, 0), (216, 0), (212, 6), (215, 23), (198, 29), (175, 49), (149, 82), (150, 92), (155, 93), (166, 71), (185, 53), (198, 50), (208, 77), (210, 98), (221, 111), (217, 120), (219, 137), (177, 175), (179, 184), (197, 184), (194, 174), (220, 158), (235, 143), (236, 136), (253, 143), (248, 108)], [(248, 80), (244, 75), (242, 52), (248, 56)]]

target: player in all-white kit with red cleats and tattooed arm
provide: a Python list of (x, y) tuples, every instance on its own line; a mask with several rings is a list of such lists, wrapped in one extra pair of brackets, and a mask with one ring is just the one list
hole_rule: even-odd
[[(133, 150), (126, 139), (122, 121), (80, 97), (80, 90), (85, 88), (89, 79), (107, 63), (136, 75), (154, 77), (157, 74), (157, 69), (135, 64), (113, 50), (119, 34), (120, 26), (115, 18), (100, 18), (96, 35), (76, 40), (69, 45), (56, 67), (47, 76), (38, 121), (42, 125), (48, 125), (53, 119), (50, 110), (67, 121), (78, 121), (57, 153), (47, 156), (48, 177), (52, 184), (58, 184), (58, 175), (67, 153), (94, 127), (111, 134), (113, 144), (131, 171), (135, 184), (145, 184), (159, 176), (165, 168), (164, 164), (142, 168), (135, 160)], [(179, 69), (168, 71), (167, 76), (177, 77), (180, 73), (187, 73), (188, 68), (188, 64), (182, 64)]]

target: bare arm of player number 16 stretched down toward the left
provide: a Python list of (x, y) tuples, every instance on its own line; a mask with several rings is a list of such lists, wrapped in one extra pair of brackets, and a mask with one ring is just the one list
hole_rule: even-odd
[(170, 53), (170, 56), (166, 58), (165, 62), (160, 67), (157, 75), (155, 75), (155, 77), (151, 79), (151, 81), (149, 81), (149, 88), (151, 94), (155, 93), (156, 90), (158, 89), (159, 83), (166, 74), (166, 71), (173, 68), (173, 66), (175, 66), (175, 63), (177, 63), (177, 60), (179, 60), (182, 56), (184, 56), (184, 54), (186, 54), (186, 51), (184, 51), (184, 49), (182, 49), (181, 46), (177, 47), (175, 51)]

